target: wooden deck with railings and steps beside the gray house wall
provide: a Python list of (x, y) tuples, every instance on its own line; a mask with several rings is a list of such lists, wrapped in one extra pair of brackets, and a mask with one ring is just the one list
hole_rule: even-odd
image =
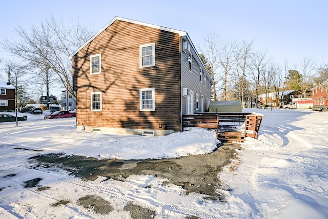
[[(242, 112), (200, 113), (183, 115), (184, 127), (216, 129), (218, 140), (244, 142), (245, 137), (257, 139), (262, 116)], [(244, 124), (244, 129), (240, 126)]]

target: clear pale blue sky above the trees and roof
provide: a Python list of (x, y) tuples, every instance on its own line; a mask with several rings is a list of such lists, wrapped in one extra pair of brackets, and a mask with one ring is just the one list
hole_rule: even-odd
[[(39, 25), (49, 14), (69, 22), (78, 18), (95, 31), (115, 16), (187, 31), (195, 46), (210, 33), (223, 40), (254, 40), (278, 64), (312, 58), (328, 63), (328, 2), (325, 0), (235, 1), (5, 1), (1, 4), (0, 41), (16, 37), (14, 28)], [(0, 58), (8, 58), (0, 48)], [(10, 57), (9, 57), (10, 58)], [(59, 88), (58, 88), (59, 89)]]

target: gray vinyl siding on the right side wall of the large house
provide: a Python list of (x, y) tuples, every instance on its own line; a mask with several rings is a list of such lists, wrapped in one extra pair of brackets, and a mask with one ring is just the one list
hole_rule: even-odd
[[(203, 96), (203, 107), (206, 110), (206, 99), (211, 99), (210, 91), (210, 79), (206, 79), (206, 86), (204, 86), (204, 72), (206, 70), (201, 65), (201, 61), (198, 61), (198, 56), (194, 55), (195, 51), (191, 49), (192, 55), (192, 72), (189, 71), (188, 53), (181, 50), (181, 89), (188, 88), (194, 92), (194, 113), (201, 112), (201, 96)], [(197, 62), (198, 61), (198, 62)], [(202, 80), (200, 81), (199, 71), (202, 68)], [(199, 108), (196, 110), (196, 94), (199, 95)], [(181, 91), (181, 113), (187, 113), (187, 97), (182, 96)]]

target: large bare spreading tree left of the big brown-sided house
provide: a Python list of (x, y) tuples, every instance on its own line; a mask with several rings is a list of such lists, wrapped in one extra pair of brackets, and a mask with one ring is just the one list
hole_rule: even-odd
[(20, 40), (10, 41), (5, 38), (1, 43), (3, 48), (29, 66), (54, 71), (64, 87), (75, 97), (72, 66), (68, 57), (83, 45), (94, 31), (80, 26), (78, 22), (77, 25), (66, 28), (63, 19), (57, 20), (50, 15), (39, 27), (32, 25), (30, 31), (27, 31), (19, 26), (15, 28), (15, 32)]

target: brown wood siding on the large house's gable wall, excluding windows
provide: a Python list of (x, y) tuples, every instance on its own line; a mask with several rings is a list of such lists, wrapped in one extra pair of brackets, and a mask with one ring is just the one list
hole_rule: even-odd
[[(115, 21), (73, 56), (76, 120), (92, 127), (180, 130), (179, 35)], [(139, 68), (139, 46), (155, 43), (155, 66)], [(101, 53), (101, 74), (90, 74), (90, 55)], [(139, 111), (139, 89), (155, 88), (155, 111)], [(91, 112), (91, 92), (102, 92)]]

